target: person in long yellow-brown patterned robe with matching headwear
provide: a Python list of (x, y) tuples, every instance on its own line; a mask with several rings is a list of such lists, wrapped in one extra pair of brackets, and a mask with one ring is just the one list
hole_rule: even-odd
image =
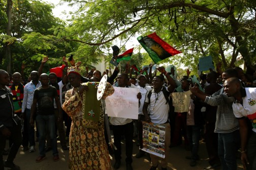
[[(94, 99), (94, 96), (88, 98), (86, 93), (94, 90), (96, 83), (81, 84), (78, 67), (69, 68), (68, 76), (74, 88), (67, 91), (62, 107), (72, 118), (69, 169), (112, 169), (104, 137), (104, 113), (101, 102), (93, 101), (93, 109), (90, 112), (86, 111), (88, 108), (85, 107), (88, 106), (87, 102)], [(107, 83), (103, 98), (113, 93), (113, 87)], [(94, 111), (97, 108), (99, 112)], [(94, 117), (98, 118), (95, 120)]]

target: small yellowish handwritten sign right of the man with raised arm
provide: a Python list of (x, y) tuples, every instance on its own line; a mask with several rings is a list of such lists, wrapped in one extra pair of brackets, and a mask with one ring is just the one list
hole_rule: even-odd
[(175, 92), (172, 93), (173, 106), (175, 112), (187, 112), (189, 109), (191, 92)]

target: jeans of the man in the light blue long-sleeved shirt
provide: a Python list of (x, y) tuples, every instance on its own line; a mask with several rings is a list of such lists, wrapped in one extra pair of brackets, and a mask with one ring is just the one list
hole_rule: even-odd
[(31, 126), (29, 123), (30, 120), (30, 109), (25, 110), (25, 116), (24, 116), (24, 131), (22, 133), (23, 139), (22, 139), (22, 146), (27, 147), (28, 142), (29, 146), (35, 146), (35, 130), (34, 126)]

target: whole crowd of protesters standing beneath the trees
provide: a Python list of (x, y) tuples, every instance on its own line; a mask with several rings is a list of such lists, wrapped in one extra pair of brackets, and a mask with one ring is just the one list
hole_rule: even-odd
[[(106, 70), (103, 74), (86, 67), (83, 75), (81, 62), (63, 57), (65, 68), (58, 77), (54, 72), (43, 73), (47, 61), (45, 57), (27, 82), (23, 71), (11, 76), (0, 70), (0, 170), (20, 169), (14, 164), (20, 146), (24, 152), (35, 152), (36, 141), (36, 162), (43, 161), (50, 150), (52, 160), (58, 161), (57, 140), (63, 150), (69, 150), (69, 169), (119, 169), (123, 138), (126, 169), (133, 169), (133, 152), (137, 152), (136, 158), (148, 154), (142, 150), (143, 121), (165, 126), (165, 157), (149, 154), (150, 170), (167, 169), (171, 148), (183, 142), (184, 148), (191, 151), (185, 158), (190, 159), (190, 166), (196, 166), (201, 139), (209, 156), (209, 166), (204, 169), (237, 169), (239, 151), (244, 168), (256, 169), (256, 72), (246, 75), (239, 67), (223, 72), (217, 68), (201, 73), (199, 81), (193, 82), (189, 70), (178, 79), (174, 67), (171, 72), (158, 67), (152, 73), (152, 65), (137, 72), (126, 64), (123, 73), (118, 67), (113, 73)], [(113, 87), (139, 89), (138, 120), (109, 118), (114, 145), (109, 143), (104, 104), (97, 100), (97, 82), (105, 74), (108, 78), (103, 99), (114, 93)], [(188, 111), (175, 112), (172, 94), (188, 91)], [(138, 150), (133, 149), (135, 137)], [(114, 154), (113, 165), (109, 154)], [(8, 155), (5, 161), (3, 155)]]

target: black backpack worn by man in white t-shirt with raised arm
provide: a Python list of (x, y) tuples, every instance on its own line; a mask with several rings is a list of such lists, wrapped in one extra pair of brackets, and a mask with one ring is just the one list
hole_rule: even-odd
[[(149, 99), (149, 104), (150, 104), (150, 97), (152, 95), (152, 90), (151, 89), (150, 91), (148, 91), (148, 99)], [(175, 114), (174, 114), (174, 106), (173, 106), (173, 100), (172, 98), (170, 97), (170, 100), (169, 100), (169, 96), (171, 94), (171, 92), (168, 92), (166, 90), (166, 88), (164, 87), (163, 90), (162, 90), (164, 96), (165, 96), (165, 99), (166, 99), (166, 104), (168, 103), (169, 104), (169, 112), (168, 112), (168, 119), (169, 119), (169, 122), (173, 122), (174, 121), (174, 118), (175, 118)]]

